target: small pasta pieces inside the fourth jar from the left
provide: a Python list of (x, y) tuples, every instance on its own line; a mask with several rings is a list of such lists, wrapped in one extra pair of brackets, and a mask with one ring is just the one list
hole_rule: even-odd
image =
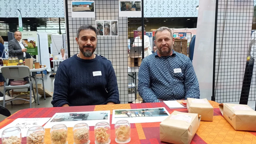
[(76, 144), (84, 144), (89, 141), (89, 130), (87, 128), (80, 128), (74, 131), (74, 142)]

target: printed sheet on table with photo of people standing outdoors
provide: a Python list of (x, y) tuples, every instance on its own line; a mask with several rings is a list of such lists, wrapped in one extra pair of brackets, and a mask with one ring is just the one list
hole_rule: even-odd
[[(138, 115), (135, 116), (135, 112)], [(130, 112), (131, 115), (126, 115), (126, 112)], [(145, 115), (142, 114), (145, 113)], [(150, 113), (147, 113), (150, 112)], [(116, 109), (113, 110), (112, 124), (115, 124), (118, 120), (127, 120), (129, 123), (152, 123), (160, 122), (166, 119), (170, 114), (164, 107), (158, 108), (140, 108), (140, 109)]]

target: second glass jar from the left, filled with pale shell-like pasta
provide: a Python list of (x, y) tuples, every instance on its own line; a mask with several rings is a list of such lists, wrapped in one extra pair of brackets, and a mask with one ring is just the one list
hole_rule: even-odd
[(35, 126), (28, 129), (27, 144), (45, 143), (45, 129), (42, 126)]

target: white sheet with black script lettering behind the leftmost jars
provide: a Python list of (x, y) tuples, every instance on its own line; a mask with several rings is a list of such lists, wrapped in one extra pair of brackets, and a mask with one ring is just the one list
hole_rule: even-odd
[(17, 118), (9, 125), (0, 129), (0, 137), (2, 137), (2, 132), (10, 127), (19, 127), (21, 130), (21, 136), (26, 137), (29, 128), (34, 126), (44, 125), (50, 118)]

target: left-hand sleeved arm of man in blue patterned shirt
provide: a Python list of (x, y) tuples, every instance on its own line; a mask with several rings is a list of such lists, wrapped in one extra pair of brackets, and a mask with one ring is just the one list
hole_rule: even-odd
[(138, 92), (146, 103), (160, 102), (150, 88), (150, 70), (148, 64), (143, 60), (138, 74)]

